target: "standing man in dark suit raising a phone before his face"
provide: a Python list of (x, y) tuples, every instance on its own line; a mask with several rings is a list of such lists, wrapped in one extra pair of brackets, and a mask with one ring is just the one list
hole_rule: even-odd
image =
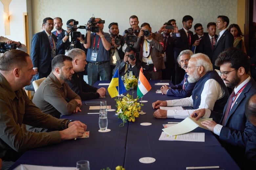
[[(162, 56), (165, 64), (165, 69), (162, 70), (162, 79), (171, 80), (172, 83), (175, 83), (175, 59), (174, 59), (174, 48), (181, 47), (181, 34), (179, 33), (178, 28), (175, 26), (174, 29), (166, 29), (166, 25), (172, 25), (171, 23), (164, 23), (160, 27), (158, 33), (163, 33), (163, 50)], [(174, 36), (171, 37), (170, 33), (174, 33)]]

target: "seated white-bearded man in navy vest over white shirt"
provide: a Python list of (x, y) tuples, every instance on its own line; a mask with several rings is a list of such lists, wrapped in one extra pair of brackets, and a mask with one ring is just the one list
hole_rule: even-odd
[[(211, 60), (208, 56), (198, 53), (191, 56), (186, 69), (188, 82), (197, 82), (190, 97), (161, 101), (152, 103), (156, 118), (185, 119), (198, 109), (221, 110), (227, 102), (228, 90), (216, 71), (213, 70)], [(193, 107), (191, 110), (161, 110), (160, 106), (182, 106)], [(210, 118), (211, 112), (204, 114), (203, 118)]]

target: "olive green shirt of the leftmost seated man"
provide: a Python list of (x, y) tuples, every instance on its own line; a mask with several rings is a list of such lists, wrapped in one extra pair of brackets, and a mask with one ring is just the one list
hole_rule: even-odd
[(16, 161), (28, 149), (61, 142), (59, 131), (34, 133), (23, 130), (22, 123), (60, 130), (63, 120), (39, 110), (23, 89), (13, 92), (0, 73), (0, 158)]

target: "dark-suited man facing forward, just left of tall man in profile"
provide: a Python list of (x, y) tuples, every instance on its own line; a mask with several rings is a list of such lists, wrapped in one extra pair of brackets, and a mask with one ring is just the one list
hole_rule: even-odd
[(208, 23), (207, 24), (208, 34), (201, 37), (200, 44), (198, 45), (198, 52), (206, 54), (208, 57), (212, 56), (212, 50), (215, 46), (218, 36), (216, 33), (216, 23)]

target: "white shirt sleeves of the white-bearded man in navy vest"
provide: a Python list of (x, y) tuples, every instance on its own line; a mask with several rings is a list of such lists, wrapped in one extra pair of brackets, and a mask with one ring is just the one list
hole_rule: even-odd
[[(204, 83), (203, 91), (201, 93), (201, 103), (198, 109), (167, 110), (167, 118), (185, 119), (186, 117), (189, 117), (193, 111), (203, 108), (210, 109), (207, 113), (205, 112), (203, 116), (203, 118), (209, 118), (215, 102), (224, 97), (224, 94), (225, 91), (221, 85), (215, 79), (209, 79)], [(167, 100), (167, 106), (193, 107), (193, 99), (192, 96), (190, 96), (182, 99)]]

